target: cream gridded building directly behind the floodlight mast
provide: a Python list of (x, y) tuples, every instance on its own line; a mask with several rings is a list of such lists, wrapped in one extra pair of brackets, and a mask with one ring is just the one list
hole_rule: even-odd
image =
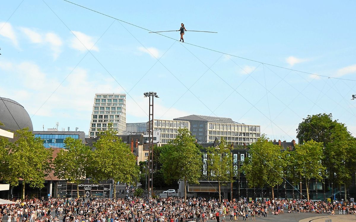
[[(177, 130), (179, 128), (187, 128), (190, 130), (189, 121), (182, 120), (163, 120), (155, 119), (153, 120), (153, 130), (161, 132), (161, 144), (167, 144), (169, 141), (173, 140), (177, 136)], [(146, 123), (147, 131), (150, 131), (150, 124)]]

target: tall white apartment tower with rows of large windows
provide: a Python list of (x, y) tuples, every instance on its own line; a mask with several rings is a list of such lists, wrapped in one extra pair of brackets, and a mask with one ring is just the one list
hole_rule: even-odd
[(94, 138), (100, 131), (113, 128), (118, 135), (126, 133), (126, 94), (124, 93), (96, 93), (93, 113), (91, 114), (89, 137)]

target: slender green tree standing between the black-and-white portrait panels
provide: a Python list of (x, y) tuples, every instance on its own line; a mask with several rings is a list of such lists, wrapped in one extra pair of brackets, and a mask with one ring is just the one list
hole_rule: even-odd
[(221, 137), (219, 146), (208, 147), (207, 154), (210, 160), (208, 164), (209, 177), (211, 180), (218, 181), (219, 201), (221, 202), (220, 186), (231, 182), (231, 176), (234, 173), (230, 146), (226, 140)]

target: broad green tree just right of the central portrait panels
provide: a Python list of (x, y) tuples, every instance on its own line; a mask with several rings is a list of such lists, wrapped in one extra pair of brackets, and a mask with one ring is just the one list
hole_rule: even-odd
[(250, 146), (251, 157), (245, 159), (241, 170), (245, 172), (247, 184), (254, 186), (269, 186), (274, 200), (274, 186), (283, 182), (283, 169), (286, 164), (282, 158), (281, 148), (274, 145), (268, 138), (262, 135), (257, 142)]

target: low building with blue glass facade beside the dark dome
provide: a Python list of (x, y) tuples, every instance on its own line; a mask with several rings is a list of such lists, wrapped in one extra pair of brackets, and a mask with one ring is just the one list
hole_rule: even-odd
[(85, 143), (85, 133), (82, 131), (33, 131), (35, 137), (41, 138), (46, 148), (66, 148), (64, 140), (72, 137)]

